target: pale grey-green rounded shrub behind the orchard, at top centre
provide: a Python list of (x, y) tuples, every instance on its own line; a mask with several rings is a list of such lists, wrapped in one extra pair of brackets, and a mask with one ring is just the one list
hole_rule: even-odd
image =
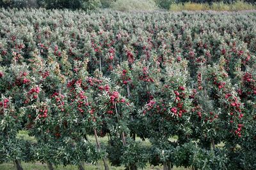
[(152, 0), (118, 0), (111, 4), (113, 10), (118, 11), (151, 11), (156, 10), (156, 3)]

